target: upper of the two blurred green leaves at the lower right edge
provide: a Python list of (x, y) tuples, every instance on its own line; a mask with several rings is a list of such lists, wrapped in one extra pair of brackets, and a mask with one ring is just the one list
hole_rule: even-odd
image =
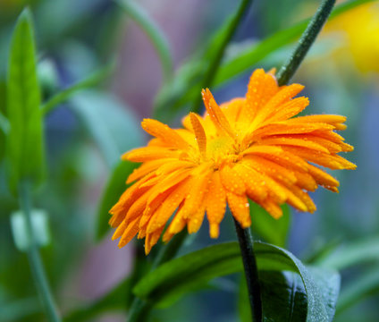
[(341, 245), (337, 250), (326, 254), (324, 258), (318, 258), (316, 264), (341, 270), (377, 260), (379, 260), (379, 237), (375, 236)]

